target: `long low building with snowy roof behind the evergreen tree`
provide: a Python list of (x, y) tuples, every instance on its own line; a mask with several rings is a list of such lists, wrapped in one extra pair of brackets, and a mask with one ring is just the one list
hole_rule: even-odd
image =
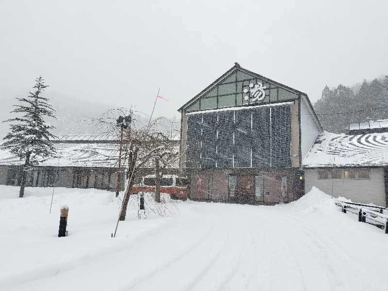
[[(118, 171), (119, 141), (113, 136), (66, 134), (53, 140), (55, 156), (35, 167), (27, 177), (27, 186), (96, 188), (115, 191)], [(13, 154), (0, 150), (0, 184), (20, 185), (20, 161)], [(122, 161), (122, 165), (125, 161)], [(152, 165), (141, 169), (141, 175), (154, 172)], [(176, 168), (166, 174), (178, 174)], [(124, 189), (124, 173), (120, 176), (120, 190)]]

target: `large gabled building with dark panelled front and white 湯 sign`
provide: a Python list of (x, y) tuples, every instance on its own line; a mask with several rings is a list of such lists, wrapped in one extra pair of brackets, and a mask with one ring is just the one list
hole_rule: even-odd
[(306, 93), (235, 63), (178, 111), (191, 199), (275, 204), (304, 194), (302, 158), (323, 131)]

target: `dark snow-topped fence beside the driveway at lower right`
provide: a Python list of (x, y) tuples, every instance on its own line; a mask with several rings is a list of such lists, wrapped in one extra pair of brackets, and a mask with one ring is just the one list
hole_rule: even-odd
[(358, 215), (358, 221), (377, 226), (384, 229), (388, 234), (388, 215), (383, 214), (384, 207), (371, 206), (353, 202), (344, 202), (337, 200), (336, 205), (342, 208), (343, 213), (348, 211)]

